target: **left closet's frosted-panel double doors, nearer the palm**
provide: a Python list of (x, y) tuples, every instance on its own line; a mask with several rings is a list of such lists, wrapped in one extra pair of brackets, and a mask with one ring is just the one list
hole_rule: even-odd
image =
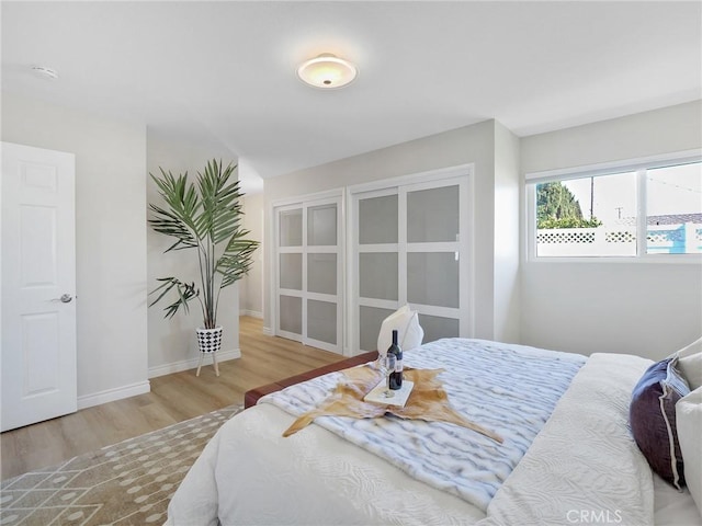
[(275, 208), (276, 333), (342, 353), (341, 199)]

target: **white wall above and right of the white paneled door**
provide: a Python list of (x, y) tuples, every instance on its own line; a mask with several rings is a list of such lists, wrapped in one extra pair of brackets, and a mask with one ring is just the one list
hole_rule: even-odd
[(146, 127), (2, 93), (2, 140), (76, 155), (79, 408), (147, 392)]

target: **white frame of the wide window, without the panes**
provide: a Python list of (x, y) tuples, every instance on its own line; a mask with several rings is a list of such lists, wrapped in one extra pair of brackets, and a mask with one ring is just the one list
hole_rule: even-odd
[(547, 263), (702, 263), (702, 254), (648, 254), (646, 243), (636, 243), (635, 255), (592, 255), (592, 256), (539, 256), (536, 255), (536, 185), (552, 181), (567, 181), (598, 175), (614, 175), (618, 173), (636, 172), (636, 238), (646, 239), (646, 171), (702, 161), (702, 149), (686, 150), (676, 153), (652, 156), (625, 161), (604, 162), (563, 170), (532, 172), (524, 175), (524, 211), (525, 239), (528, 262)]

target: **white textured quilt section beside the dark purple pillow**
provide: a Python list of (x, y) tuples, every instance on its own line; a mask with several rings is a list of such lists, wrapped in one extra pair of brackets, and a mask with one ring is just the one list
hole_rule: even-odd
[(649, 363), (590, 356), (480, 526), (653, 524), (653, 476), (627, 431), (631, 391)]

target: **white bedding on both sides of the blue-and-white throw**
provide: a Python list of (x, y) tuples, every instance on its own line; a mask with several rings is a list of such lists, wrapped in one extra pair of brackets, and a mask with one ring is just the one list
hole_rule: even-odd
[[(588, 359), (487, 515), (319, 425), (283, 438), (294, 416), (259, 404), (233, 418), (207, 445), (173, 496), (167, 524), (585, 524), (581, 515), (579, 523), (570, 521), (576, 518), (568, 515), (573, 505), (577, 513), (581, 506), (609, 510), (610, 515), (598, 515), (605, 519), (602, 524), (644, 526), (654, 524), (654, 517), (660, 526), (702, 524), (691, 513), (689, 494), (657, 492), (654, 508), (650, 470), (630, 447), (627, 397), (649, 364), (621, 355)], [(588, 425), (578, 425), (580, 408), (590, 403), (582, 402), (582, 393), (593, 385), (604, 386), (600, 392), (614, 402), (601, 419), (599, 411), (586, 410)], [(563, 436), (576, 441), (573, 447)], [(605, 436), (616, 447), (601, 448)], [(553, 441), (561, 446), (553, 447)], [(612, 491), (612, 474), (627, 491)], [(533, 505), (543, 499), (550, 502), (545, 514), (541, 504)], [(611, 522), (623, 517), (618, 510), (642, 522)]]

